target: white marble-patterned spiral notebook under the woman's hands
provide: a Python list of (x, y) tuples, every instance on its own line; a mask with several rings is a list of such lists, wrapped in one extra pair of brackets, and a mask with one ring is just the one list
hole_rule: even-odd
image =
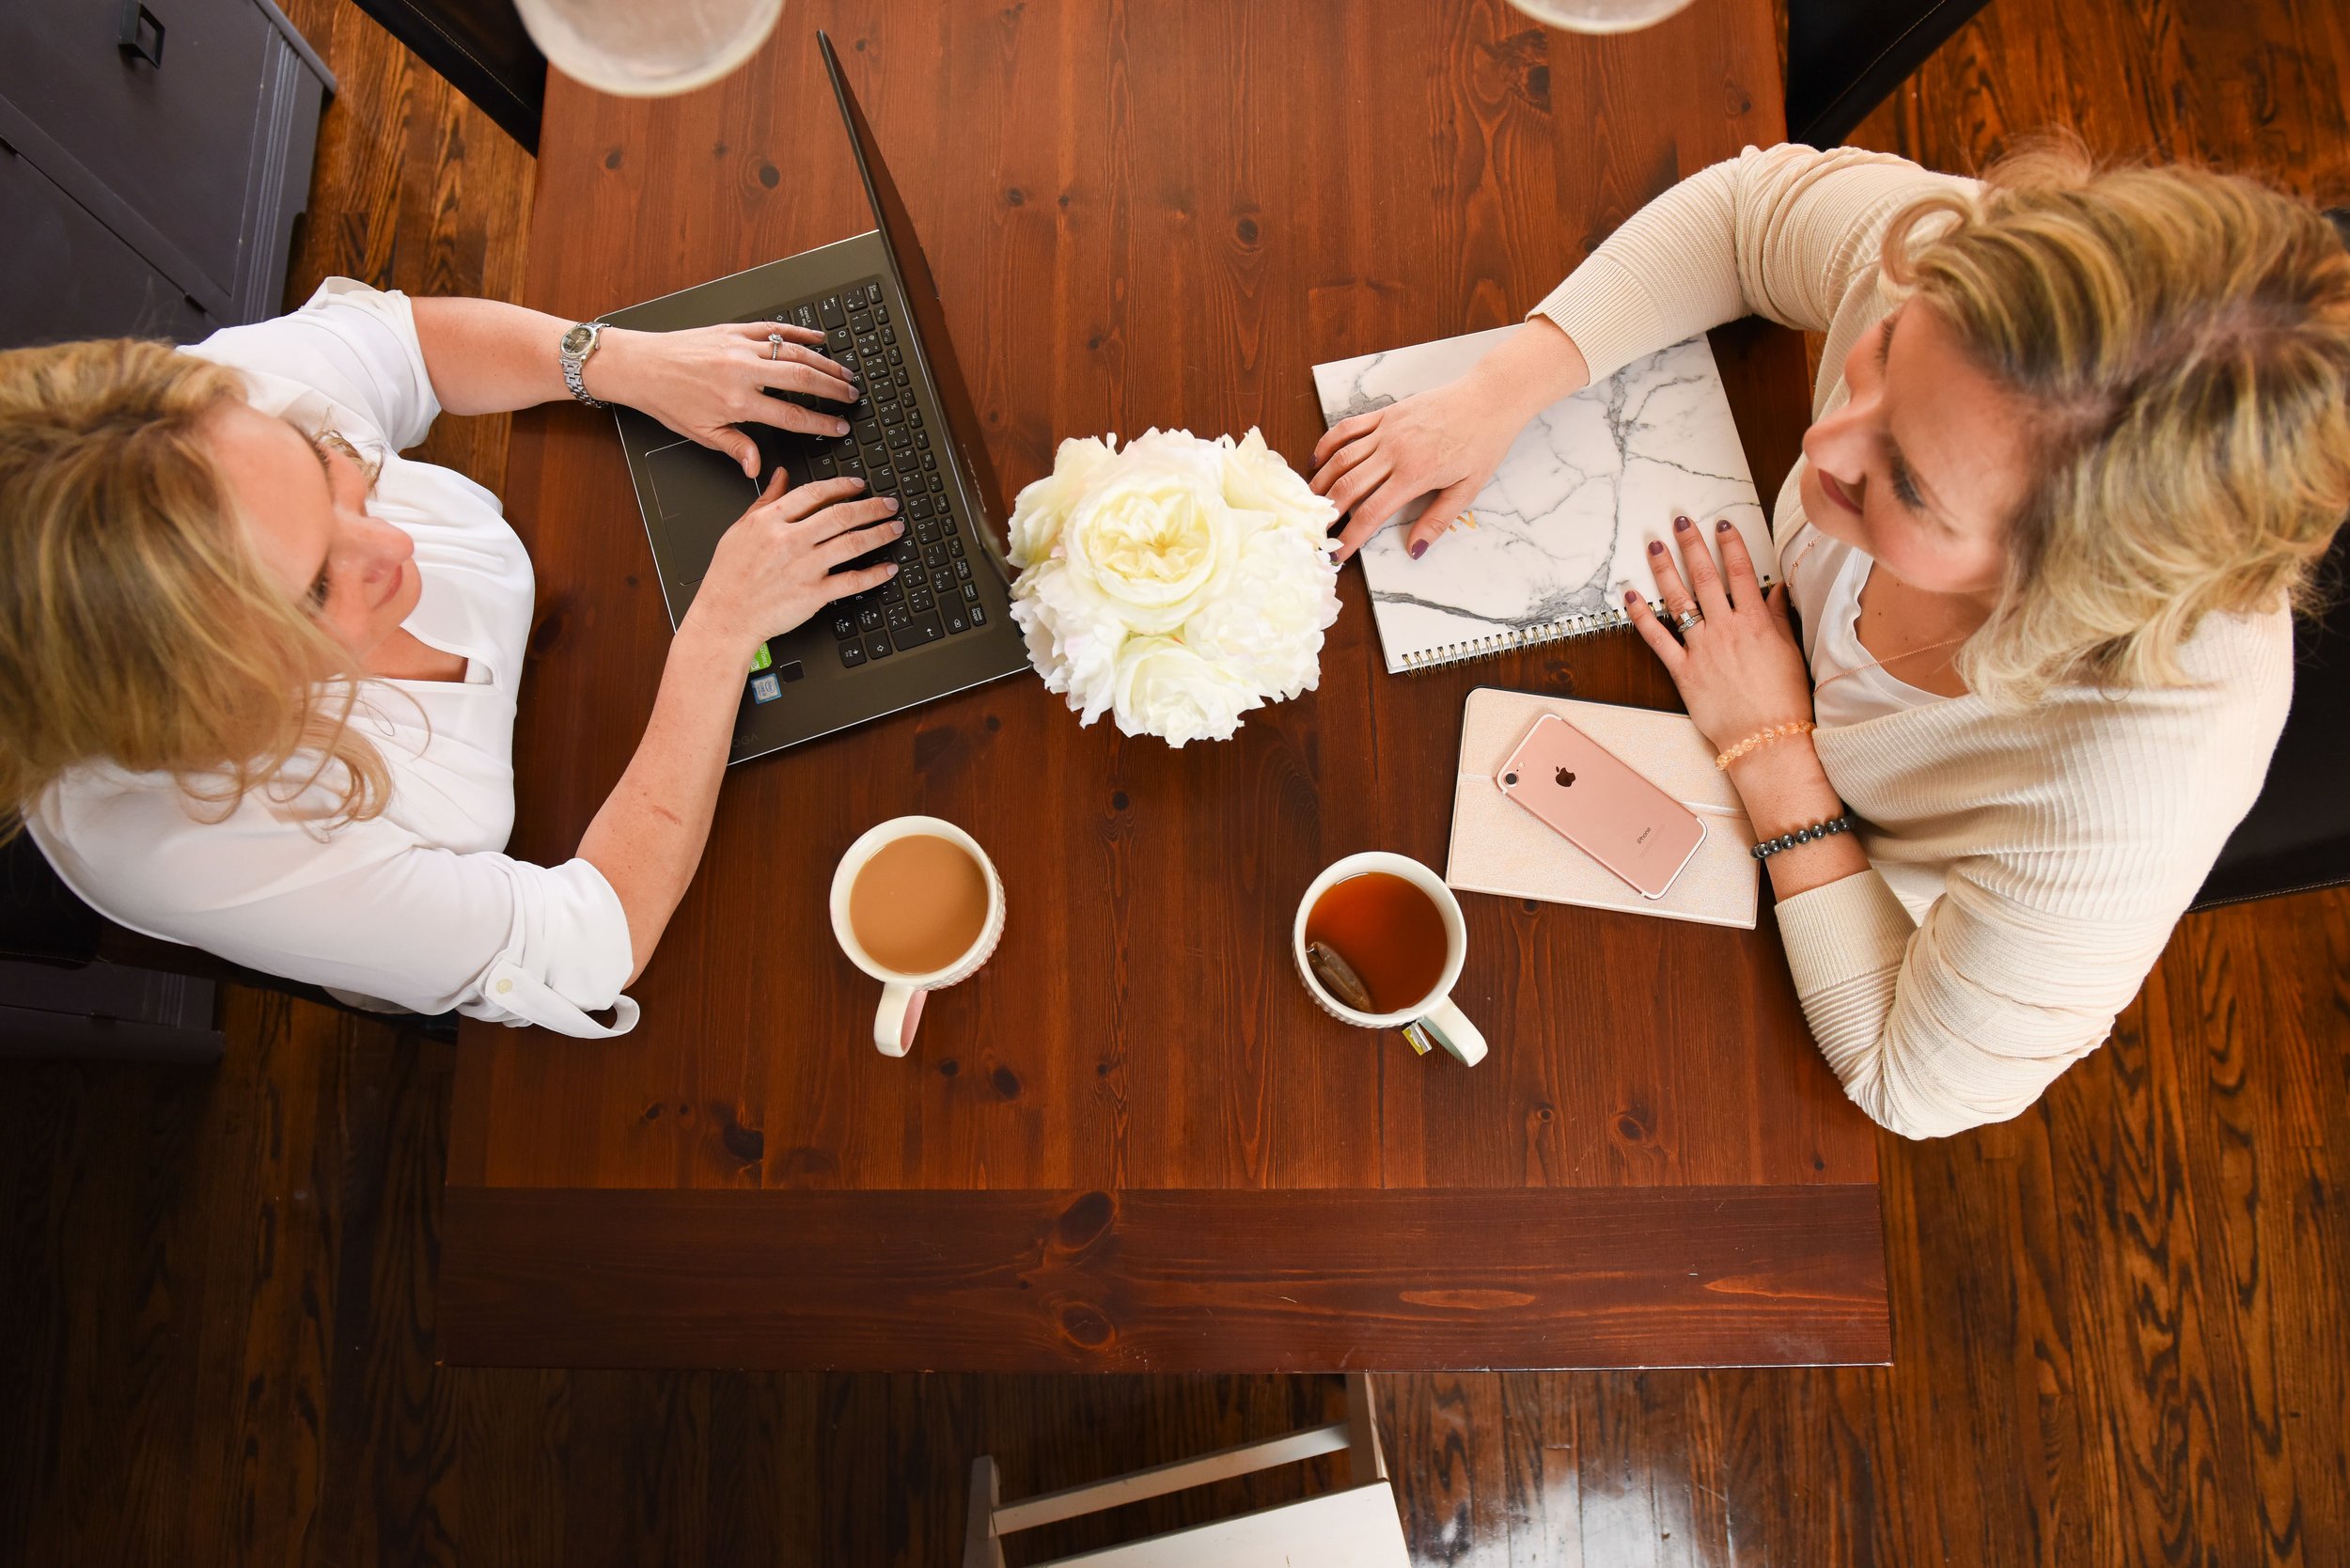
[[(1513, 331), (1525, 327), (1316, 364), (1323, 423), (1452, 381)], [(1389, 675), (1626, 625), (1626, 588), (1657, 604), (1647, 541), (1668, 541), (1676, 515), (1708, 524), (1708, 548), (1713, 520), (1730, 517), (1762, 581), (1779, 569), (1701, 334), (1528, 421), (1469, 505), (1473, 522), (1415, 562), (1403, 545), (1419, 510), (1415, 501), (1398, 512), (1361, 555)]]

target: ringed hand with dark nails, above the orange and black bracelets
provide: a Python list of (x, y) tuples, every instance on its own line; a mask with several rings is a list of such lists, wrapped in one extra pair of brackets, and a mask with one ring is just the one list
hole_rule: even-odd
[(1723, 541), (1727, 583), (1713, 569), (1704, 534), (1687, 517), (1673, 520), (1680, 567), (1661, 543), (1647, 548), (1666, 616), (1680, 621), (1690, 609), (1704, 616), (1683, 637), (1673, 637), (1673, 628), (1657, 618), (1640, 592), (1626, 592), (1624, 609), (1680, 686), (1690, 719), (1713, 750), (1725, 750), (1758, 729), (1810, 719), (1812, 672), (1786, 616), (1786, 585), (1765, 595), (1739, 531), (1723, 522), (1716, 524), (1716, 536)]

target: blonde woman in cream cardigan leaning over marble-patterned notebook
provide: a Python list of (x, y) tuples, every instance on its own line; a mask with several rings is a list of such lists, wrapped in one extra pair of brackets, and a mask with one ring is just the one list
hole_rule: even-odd
[(1417, 559), (1537, 409), (1748, 313), (1826, 334), (1784, 583), (1673, 520), (1666, 616), (1626, 609), (1762, 835), (1845, 1091), (1911, 1138), (2002, 1121), (2106, 1039), (2261, 790), (2350, 508), (2350, 254), (2204, 169), (1748, 148), (1464, 378), (1335, 425), (1344, 550), (1434, 494)]

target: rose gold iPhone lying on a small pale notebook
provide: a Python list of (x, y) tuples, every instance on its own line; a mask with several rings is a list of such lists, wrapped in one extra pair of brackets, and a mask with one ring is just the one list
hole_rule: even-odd
[(1535, 719), (1495, 783), (1640, 898), (1664, 898), (1706, 842), (1694, 811), (1556, 712)]

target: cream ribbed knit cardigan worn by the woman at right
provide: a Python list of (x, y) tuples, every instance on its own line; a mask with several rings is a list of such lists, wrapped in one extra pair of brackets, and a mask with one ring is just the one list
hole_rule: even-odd
[[(1591, 378), (1741, 315), (1828, 334), (1812, 416), (1847, 400), (1845, 353), (1896, 303), (1887, 221), (1974, 181), (1901, 158), (1746, 148), (1631, 216), (1537, 306)], [(1777, 538), (1802, 522), (1795, 473)], [(1779, 936), (1845, 1093), (1911, 1138), (2005, 1121), (2103, 1044), (2228, 832), (2251, 809), (2294, 689), (2291, 621), (2207, 616), (2195, 686), (1976, 696), (1824, 726), (1828, 780), (1875, 865), (1943, 875), (1913, 924), (1875, 872), (1779, 903)]]

